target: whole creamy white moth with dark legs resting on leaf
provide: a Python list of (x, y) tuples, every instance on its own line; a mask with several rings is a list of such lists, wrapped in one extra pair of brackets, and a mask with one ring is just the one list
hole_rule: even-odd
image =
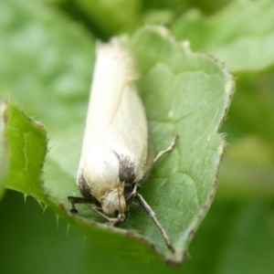
[(92, 208), (111, 224), (127, 219), (138, 205), (136, 198), (159, 228), (168, 248), (174, 251), (169, 237), (153, 209), (137, 191), (153, 164), (172, 144), (153, 159), (148, 125), (133, 81), (137, 79), (132, 54), (118, 39), (97, 45), (97, 58), (91, 86), (86, 130), (79, 161), (77, 185), (82, 197), (68, 196), (71, 212), (75, 204)]

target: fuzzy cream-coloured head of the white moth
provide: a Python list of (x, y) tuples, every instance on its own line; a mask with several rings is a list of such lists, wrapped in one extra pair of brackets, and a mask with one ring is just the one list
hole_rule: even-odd
[(111, 191), (108, 191), (101, 197), (101, 207), (104, 214), (114, 216), (118, 213), (122, 219), (127, 208), (123, 196), (123, 184), (117, 188), (111, 189)]

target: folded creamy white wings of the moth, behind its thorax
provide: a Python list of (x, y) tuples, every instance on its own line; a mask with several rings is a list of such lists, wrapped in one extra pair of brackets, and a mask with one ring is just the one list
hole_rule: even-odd
[(132, 84), (134, 79), (130, 52), (117, 41), (98, 47), (78, 177), (87, 153), (103, 143), (121, 159), (130, 159), (135, 181), (142, 179), (147, 158), (147, 122)]

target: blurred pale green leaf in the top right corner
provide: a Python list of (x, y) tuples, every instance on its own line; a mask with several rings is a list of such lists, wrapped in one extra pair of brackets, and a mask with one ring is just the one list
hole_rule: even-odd
[(237, 0), (215, 16), (189, 11), (172, 29), (176, 38), (188, 39), (233, 71), (258, 71), (274, 64), (273, 17), (271, 0)]

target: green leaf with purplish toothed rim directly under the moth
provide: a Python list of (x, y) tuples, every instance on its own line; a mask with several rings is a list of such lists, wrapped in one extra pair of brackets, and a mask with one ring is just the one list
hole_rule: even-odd
[[(151, 51), (147, 50), (150, 45), (153, 45)], [(166, 147), (175, 134), (180, 136), (175, 151), (155, 166), (153, 179), (142, 188), (142, 194), (172, 238), (176, 253), (166, 249), (163, 238), (144, 212), (131, 215), (123, 225), (132, 230), (129, 235), (127, 230), (93, 223), (91, 219), (100, 218), (87, 212), (85, 206), (79, 208), (79, 216), (83, 218), (66, 216), (54, 201), (51, 206), (87, 237), (123, 258), (155, 258), (151, 246), (167, 261), (179, 263), (216, 191), (216, 172), (224, 150), (224, 140), (216, 131), (227, 110), (233, 82), (226, 69), (213, 59), (177, 44), (163, 28), (141, 29), (132, 37), (130, 47), (142, 70), (138, 86), (152, 125), (155, 151)], [(60, 173), (57, 163), (50, 159), (45, 171), (48, 193), (67, 210), (66, 197), (79, 195), (72, 182), (75, 175), (70, 174), (68, 167), (71, 161), (76, 163), (73, 150), (68, 151), (79, 146), (80, 137), (75, 141), (75, 132), (79, 132), (77, 127), (60, 133), (63, 145), (56, 152), (63, 155), (59, 162), (67, 174)], [(65, 136), (73, 136), (73, 143), (66, 141)], [(58, 140), (61, 139), (59, 136)]]

